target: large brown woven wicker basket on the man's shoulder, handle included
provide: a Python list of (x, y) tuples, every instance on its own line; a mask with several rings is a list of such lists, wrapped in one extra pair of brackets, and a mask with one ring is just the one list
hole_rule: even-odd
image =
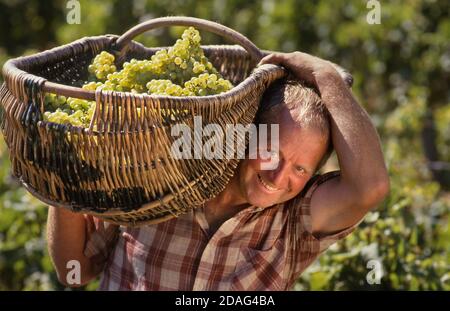
[[(172, 25), (194, 26), (239, 44), (203, 46), (235, 85), (232, 90), (171, 97), (80, 88), (87, 66), (100, 51), (115, 54), (118, 66), (131, 58), (149, 58), (161, 48), (146, 48), (132, 38)], [(1, 128), (13, 175), (47, 204), (116, 224), (138, 226), (181, 215), (221, 192), (239, 159), (174, 159), (172, 126), (184, 123), (193, 129), (194, 116), (202, 116), (203, 125), (219, 124), (224, 132), (226, 124), (251, 123), (263, 92), (285, 75), (274, 65), (255, 68), (263, 56), (247, 38), (220, 24), (165, 17), (139, 24), (121, 37), (83, 38), (9, 60), (0, 89)], [(46, 92), (95, 101), (90, 127), (43, 121)]]

